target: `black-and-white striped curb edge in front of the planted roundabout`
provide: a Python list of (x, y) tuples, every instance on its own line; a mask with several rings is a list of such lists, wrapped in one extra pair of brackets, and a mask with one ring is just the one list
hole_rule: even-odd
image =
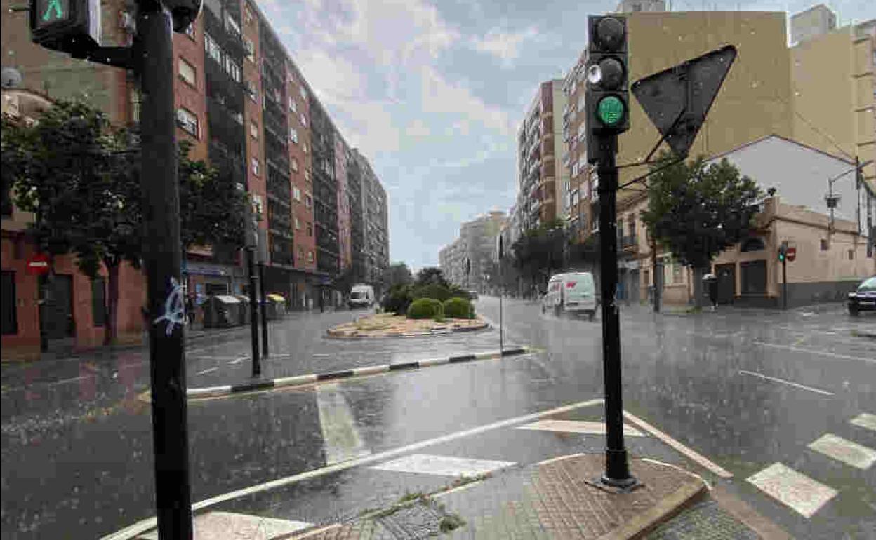
[[(531, 347), (512, 347), (502, 351), (501, 357), (516, 356), (518, 354), (527, 354), (534, 352)], [(460, 354), (456, 356), (447, 356), (442, 358), (428, 358), (426, 360), (400, 362), (396, 364), (382, 364), (379, 366), (367, 366), (365, 368), (344, 369), (341, 371), (329, 371), (328, 373), (313, 373), (309, 375), (293, 375), (289, 377), (279, 377), (269, 381), (243, 382), (241, 384), (226, 384), (223, 386), (213, 386), (209, 388), (194, 388), (188, 389), (186, 396), (188, 399), (201, 399), (205, 397), (229, 396), (241, 392), (253, 392), (266, 389), (290, 388), (294, 386), (303, 386), (321, 381), (334, 381), (336, 379), (347, 379), (350, 377), (361, 377), (364, 375), (375, 375), (378, 373), (388, 373), (390, 371), (402, 371), (406, 369), (429, 368), (431, 366), (439, 366), (441, 364), (454, 364), (463, 361), (476, 360), (491, 360), (500, 358), (498, 351), (490, 351), (487, 353), (477, 354)]]

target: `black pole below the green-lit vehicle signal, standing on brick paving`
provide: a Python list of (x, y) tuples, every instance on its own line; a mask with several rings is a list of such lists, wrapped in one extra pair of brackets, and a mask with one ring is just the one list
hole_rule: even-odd
[(599, 164), (599, 264), (602, 294), (603, 369), (605, 378), (605, 473), (602, 482), (614, 487), (630, 487), (636, 479), (624, 447), (624, 404), (621, 397), (620, 377), (620, 319), (616, 305), (618, 288), (618, 228), (616, 202), (618, 167), (615, 153), (618, 137), (598, 139)]

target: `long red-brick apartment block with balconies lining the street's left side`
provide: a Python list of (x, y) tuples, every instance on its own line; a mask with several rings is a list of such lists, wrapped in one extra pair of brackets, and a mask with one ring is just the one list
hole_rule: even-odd
[[(113, 123), (138, 123), (140, 97), (132, 74), (33, 45), (27, 12), (12, 10), (13, 4), (3, 0), (4, 68), (23, 75), (16, 99), (31, 103), (23, 108), (79, 98), (107, 112)], [(130, 45), (133, 31), (133, 3), (102, 3), (106, 43)], [(173, 48), (177, 137), (194, 144), (193, 158), (208, 160), (251, 194), (266, 291), (307, 308), (319, 294), (329, 297), (331, 281), (344, 268), (376, 282), (388, 266), (385, 191), (367, 159), (343, 140), (258, 5), (205, 0), (189, 31), (173, 36)], [(4, 102), (7, 95), (12, 99), (6, 90)], [(4, 103), (4, 114), (7, 109)], [(71, 321), (52, 326), (62, 328), (57, 333), (74, 347), (98, 344), (102, 320), (94, 313), (102, 311), (104, 284), (88, 284), (69, 257), (60, 257), (58, 271), (68, 276), (60, 279), (60, 294), (70, 301), (57, 314), (44, 309), (40, 316), (39, 284), (19, 264), (32, 251), (24, 235), (28, 216), (11, 207), (7, 213), (7, 206), (4, 193), (4, 357), (7, 345), (39, 354), (40, 336), (46, 336), (40, 325), (51, 318)], [(244, 261), (240, 251), (223, 246), (190, 249), (184, 284), (201, 298), (242, 293)], [(131, 299), (119, 305), (117, 327), (132, 339), (142, 329), (142, 282), (138, 271), (124, 267), (120, 285)], [(7, 313), (14, 325), (6, 324)]]

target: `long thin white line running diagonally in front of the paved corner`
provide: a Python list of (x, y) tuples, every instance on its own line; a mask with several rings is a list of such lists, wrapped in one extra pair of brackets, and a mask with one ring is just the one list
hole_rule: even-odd
[[(344, 461), (343, 463), (337, 463), (336, 465), (324, 466), (322, 468), (314, 469), (312, 471), (306, 471), (304, 473), (298, 473), (294, 474), (293, 476), (278, 478), (276, 480), (271, 480), (262, 484), (257, 484), (255, 486), (237, 489), (236, 491), (231, 491), (226, 494), (216, 495), (215, 497), (195, 502), (192, 505), (192, 509), (202, 510), (203, 508), (209, 508), (225, 501), (233, 501), (246, 495), (260, 493), (263, 491), (270, 491), (272, 489), (276, 489), (277, 487), (288, 486), (302, 480), (318, 478), (325, 474), (344, 471), (355, 466), (377, 463), (379, 461), (384, 461), (385, 459), (390, 459), (399, 455), (406, 454), (407, 452), (420, 450), (420, 448), (425, 448), (427, 446), (440, 445), (442, 443), (447, 443), (459, 438), (471, 437), (473, 435), (479, 435), (480, 433), (484, 433), (486, 431), (498, 430), (500, 428), (508, 427), (515, 424), (533, 422), (534, 420), (538, 420), (539, 418), (562, 414), (563, 412), (569, 412), (569, 410), (583, 409), (584, 407), (591, 407), (593, 405), (598, 405), (599, 403), (603, 403), (602, 398), (590, 399), (578, 403), (571, 403), (569, 405), (563, 405), (562, 407), (556, 407), (555, 409), (542, 410), (541, 412), (533, 412), (532, 414), (523, 415), (522, 417), (508, 418), (506, 420), (493, 422), (492, 424), (480, 425), (478, 427), (471, 428), (470, 430), (456, 431), (455, 433), (449, 433), (448, 435), (442, 435), (441, 437), (429, 438), (427, 440), (422, 440), (418, 443), (413, 443), (412, 445), (401, 446), (399, 448), (393, 448), (392, 450), (386, 450), (385, 452), (372, 454), (371, 456), (365, 458)], [(124, 529), (117, 530), (112, 534), (103, 536), (102, 540), (131, 540), (131, 538), (135, 538), (139, 534), (149, 529), (153, 529), (156, 526), (156, 523), (158, 523), (157, 518), (149, 517), (145, 520), (129, 525)]]

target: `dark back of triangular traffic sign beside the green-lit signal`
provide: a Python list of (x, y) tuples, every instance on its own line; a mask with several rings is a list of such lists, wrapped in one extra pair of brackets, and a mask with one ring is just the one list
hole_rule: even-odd
[(736, 59), (728, 45), (632, 83), (632, 95), (676, 154), (687, 156)]

